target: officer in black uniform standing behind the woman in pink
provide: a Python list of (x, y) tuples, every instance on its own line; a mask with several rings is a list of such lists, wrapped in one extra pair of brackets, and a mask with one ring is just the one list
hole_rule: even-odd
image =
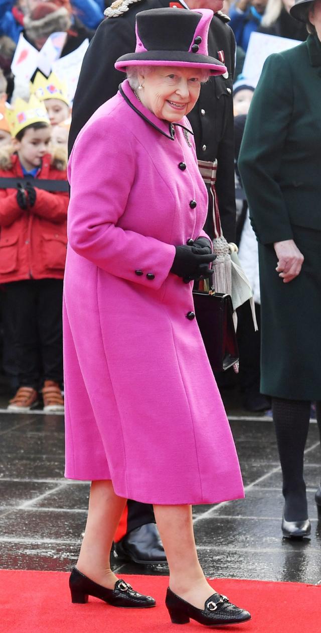
[[(222, 0), (116, 0), (106, 11), (83, 60), (73, 102), (69, 135), (69, 151), (76, 136), (102, 103), (118, 91), (123, 73), (114, 62), (135, 50), (135, 17), (139, 11), (173, 7), (177, 9), (209, 8), (214, 11), (209, 32), (209, 55), (223, 61), (226, 75), (211, 77), (203, 84), (197, 105), (190, 119), (195, 135), (199, 161), (217, 160), (215, 191), (221, 215), (222, 232), (227, 242), (235, 239), (234, 139), (233, 139), (233, 76), (235, 40), (227, 25), (229, 18), (221, 13)], [(119, 148), (121, 150), (121, 148)], [(108, 139), (106, 139), (108, 151)], [(209, 187), (209, 185), (207, 185)], [(213, 237), (212, 207), (209, 207), (205, 231)], [(152, 506), (128, 501), (123, 521), (115, 537), (114, 549), (119, 558), (136, 563), (166, 561), (160, 542)]]

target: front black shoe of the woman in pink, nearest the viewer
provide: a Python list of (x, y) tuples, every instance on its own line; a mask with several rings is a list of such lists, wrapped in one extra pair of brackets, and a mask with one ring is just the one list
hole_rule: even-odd
[(248, 611), (233, 605), (226, 596), (217, 593), (207, 599), (203, 609), (197, 609), (176, 596), (168, 587), (165, 604), (173, 624), (188, 624), (191, 618), (205, 627), (221, 627), (226, 624), (241, 624), (251, 619)]

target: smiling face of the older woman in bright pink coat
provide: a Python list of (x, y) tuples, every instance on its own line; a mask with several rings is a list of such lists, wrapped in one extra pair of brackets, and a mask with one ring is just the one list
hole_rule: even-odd
[(203, 75), (198, 68), (156, 66), (138, 73), (143, 89), (137, 94), (155, 116), (171, 123), (188, 115), (197, 102)]

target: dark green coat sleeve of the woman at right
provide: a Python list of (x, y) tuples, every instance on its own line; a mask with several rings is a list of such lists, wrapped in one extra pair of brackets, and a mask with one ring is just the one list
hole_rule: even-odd
[(272, 54), (265, 61), (255, 89), (238, 160), (251, 223), (262, 244), (293, 239), (278, 182), (292, 116), (293, 89), (288, 63), (282, 54)]

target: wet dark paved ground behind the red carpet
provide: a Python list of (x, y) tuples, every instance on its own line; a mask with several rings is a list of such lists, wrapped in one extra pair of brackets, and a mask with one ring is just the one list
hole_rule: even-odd
[[(194, 506), (205, 573), (321, 584), (321, 522), (314, 503), (321, 475), (317, 425), (310, 424), (305, 457), (312, 534), (293, 542), (281, 534), (282, 483), (272, 421), (228, 413), (246, 498)], [(63, 430), (62, 416), (0, 410), (1, 568), (69, 570), (76, 561), (89, 485), (63, 478)], [(166, 565), (144, 567), (115, 558), (113, 567), (117, 573), (168, 573)]]

